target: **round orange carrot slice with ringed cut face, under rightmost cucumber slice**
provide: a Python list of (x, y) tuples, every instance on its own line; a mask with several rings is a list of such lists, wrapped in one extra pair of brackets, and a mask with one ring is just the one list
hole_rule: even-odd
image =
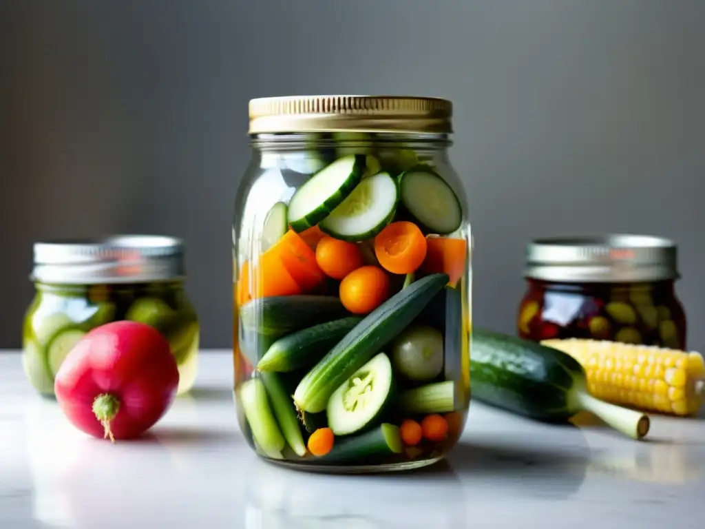
[(393, 274), (415, 272), (426, 257), (426, 238), (413, 222), (393, 222), (374, 238), (374, 254)]

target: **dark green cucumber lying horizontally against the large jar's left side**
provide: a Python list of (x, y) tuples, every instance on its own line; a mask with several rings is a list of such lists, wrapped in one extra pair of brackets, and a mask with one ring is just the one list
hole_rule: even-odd
[(243, 327), (262, 334), (288, 334), (319, 323), (352, 316), (334, 296), (257, 298), (240, 308)]

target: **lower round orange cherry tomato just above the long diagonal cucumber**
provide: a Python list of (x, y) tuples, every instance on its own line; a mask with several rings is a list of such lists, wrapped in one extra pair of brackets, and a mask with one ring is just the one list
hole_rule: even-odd
[(341, 281), (341, 303), (353, 314), (367, 314), (389, 297), (389, 288), (384, 270), (372, 265), (360, 267)]

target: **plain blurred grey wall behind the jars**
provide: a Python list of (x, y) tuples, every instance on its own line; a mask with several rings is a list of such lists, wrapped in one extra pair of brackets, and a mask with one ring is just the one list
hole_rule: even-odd
[(230, 223), (247, 100), (439, 95), (469, 190), (477, 325), (512, 332), (525, 241), (680, 244), (705, 349), (705, 2), (0, 2), (0, 346), (38, 238), (188, 242), (204, 346), (231, 344)]

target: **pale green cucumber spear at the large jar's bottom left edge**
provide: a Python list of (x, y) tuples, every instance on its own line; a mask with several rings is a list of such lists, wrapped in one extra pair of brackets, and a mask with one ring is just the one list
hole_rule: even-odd
[(286, 442), (271, 412), (262, 380), (252, 378), (243, 382), (240, 386), (240, 404), (245, 411), (255, 444), (266, 456), (281, 459), (281, 451)]

